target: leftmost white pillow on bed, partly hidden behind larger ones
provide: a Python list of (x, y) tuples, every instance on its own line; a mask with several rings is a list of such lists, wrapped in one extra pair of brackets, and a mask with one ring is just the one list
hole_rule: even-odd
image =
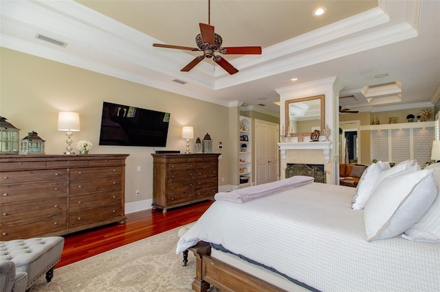
[(362, 210), (364, 208), (366, 201), (377, 185), (380, 173), (389, 168), (390, 164), (388, 162), (379, 161), (365, 169), (360, 177), (353, 199), (351, 199), (351, 208), (353, 210)]

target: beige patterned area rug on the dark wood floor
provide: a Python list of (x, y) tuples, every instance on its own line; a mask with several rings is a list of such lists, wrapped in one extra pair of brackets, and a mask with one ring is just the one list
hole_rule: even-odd
[[(28, 290), (36, 291), (192, 291), (195, 257), (188, 265), (176, 254), (179, 228), (118, 247), (54, 270), (52, 282), (42, 276)], [(217, 291), (217, 289), (213, 289)]]

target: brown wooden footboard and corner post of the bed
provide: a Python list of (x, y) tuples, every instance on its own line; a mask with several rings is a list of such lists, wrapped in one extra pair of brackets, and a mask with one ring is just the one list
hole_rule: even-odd
[(250, 273), (212, 258), (209, 243), (199, 241), (197, 245), (190, 247), (188, 250), (195, 255), (196, 271), (192, 282), (192, 290), (196, 292), (207, 291), (210, 284), (221, 289), (221, 291), (285, 291), (250, 275)]

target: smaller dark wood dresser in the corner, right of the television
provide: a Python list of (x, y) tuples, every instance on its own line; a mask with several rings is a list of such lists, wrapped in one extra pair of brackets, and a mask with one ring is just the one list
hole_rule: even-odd
[(153, 208), (213, 199), (219, 189), (220, 154), (153, 155)]

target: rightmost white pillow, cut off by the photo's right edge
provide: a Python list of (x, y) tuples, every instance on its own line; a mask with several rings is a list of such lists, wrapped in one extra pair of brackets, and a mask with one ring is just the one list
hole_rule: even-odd
[[(434, 181), (437, 184), (437, 190), (440, 190), (440, 163), (437, 166), (429, 165), (425, 169), (434, 169)], [(440, 191), (437, 191), (437, 198), (430, 208), (411, 228), (401, 235), (404, 239), (410, 241), (428, 241), (440, 243)]]

